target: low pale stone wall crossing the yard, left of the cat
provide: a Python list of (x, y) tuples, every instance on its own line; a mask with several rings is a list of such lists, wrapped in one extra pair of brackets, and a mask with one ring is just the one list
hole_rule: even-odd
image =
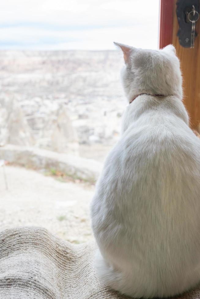
[(101, 163), (91, 159), (28, 146), (2, 146), (0, 159), (28, 168), (54, 169), (91, 183), (96, 182), (102, 169)]

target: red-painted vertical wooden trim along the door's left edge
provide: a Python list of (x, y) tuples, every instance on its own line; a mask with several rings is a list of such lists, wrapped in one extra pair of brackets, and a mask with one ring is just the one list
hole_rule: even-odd
[(160, 0), (159, 48), (172, 44), (174, 0)]

